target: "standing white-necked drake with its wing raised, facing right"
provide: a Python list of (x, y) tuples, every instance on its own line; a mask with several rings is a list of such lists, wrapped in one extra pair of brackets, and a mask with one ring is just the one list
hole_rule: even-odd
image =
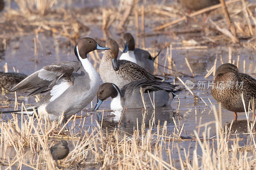
[[(58, 120), (64, 111), (64, 120), (67, 120), (86, 107), (99, 89), (100, 77), (87, 58), (87, 54), (96, 49), (110, 48), (101, 47), (92, 38), (83, 38), (77, 42), (74, 49), (78, 62), (45, 66), (10, 91), (35, 89), (32, 94), (50, 91), (27, 110), (33, 113), (34, 108), (38, 114), (49, 114), (50, 121)], [(74, 72), (77, 68), (81, 69), (81, 73)]]

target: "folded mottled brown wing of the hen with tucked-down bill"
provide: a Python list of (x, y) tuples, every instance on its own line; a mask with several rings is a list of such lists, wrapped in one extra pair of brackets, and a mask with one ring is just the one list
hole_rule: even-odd
[(136, 80), (162, 80), (161, 78), (150, 74), (136, 63), (127, 60), (117, 60), (117, 63), (119, 65), (119, 70), (126, 72), (127, 75), (131, 75)]

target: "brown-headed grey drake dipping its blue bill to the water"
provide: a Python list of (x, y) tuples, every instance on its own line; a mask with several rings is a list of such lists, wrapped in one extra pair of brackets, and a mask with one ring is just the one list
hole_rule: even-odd
[[(144, 107), (140, 88), (142, 88), (146, 107), (153, 107), (152, 102), (155, 101), (155, 107), (170, 106), (174, 96), (179, 94), (184, 88), (176, 90), (177, 85), (169, 82), (158, 82), (152, 80), (133, 81), (125, 85), (121, 90), (113, 83), (104, 83), (100, 85), (97, 92), (97, 104), (95, 109), (100, 107), (102, 101), (112, 98), (111, 109), (142, 108)], [(149, 98), (149, 94), (150, 98)], [(155, 97), (154, 97), (155, 94)]]

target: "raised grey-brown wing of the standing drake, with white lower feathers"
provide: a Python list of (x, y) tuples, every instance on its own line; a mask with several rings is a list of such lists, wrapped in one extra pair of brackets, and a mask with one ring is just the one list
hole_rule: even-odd
[(79, 69), (80, 64), (76, 61), (51, 64), (29, 75), (19, 84), (14, 86), (9, 92), (14, 92), (17, 90), (33, 90), (28, 95), (33, 96), (51, 90), (51, 95), (55, 97), (54, 99), (56, 99), (69, 86), (73, 85), (75, 78), (72, 76), (72, 73)]

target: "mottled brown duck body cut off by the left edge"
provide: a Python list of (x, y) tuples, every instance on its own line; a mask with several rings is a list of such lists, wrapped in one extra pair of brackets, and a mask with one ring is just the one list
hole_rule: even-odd
[(0, 87), (6, 90), (10, 90), (12, 87), (20, 83), (26, 77), (28, 76), (23, 73), (0, 72)]

